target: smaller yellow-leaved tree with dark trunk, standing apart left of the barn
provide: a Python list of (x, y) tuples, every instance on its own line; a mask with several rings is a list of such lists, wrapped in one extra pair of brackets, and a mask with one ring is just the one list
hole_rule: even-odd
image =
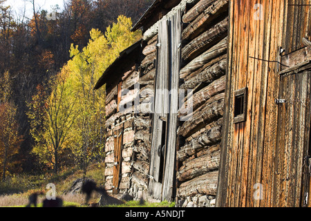
[[(50, 88), (50, 93), (46, 88)], [(38, 86), (37, 95), (28, 104), (30, 133), (36, 142), (32, 152), (52, 167), (55, 174), (59, 171), (59, 156), (66, 151), (69, 131), (75, 120), (75, 99), (66, 99), (67, 93), (70, 88), (66, 88), (65, 76), (57, 75), (47, 86)]]

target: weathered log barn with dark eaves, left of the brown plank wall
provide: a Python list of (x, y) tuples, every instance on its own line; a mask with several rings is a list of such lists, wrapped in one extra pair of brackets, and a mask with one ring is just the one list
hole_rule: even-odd
[(132, 29), (142, 40), (97, 82), (106, 84), (110, 193), (215, 205), (228, 8), (228, 0), (153, 1)]

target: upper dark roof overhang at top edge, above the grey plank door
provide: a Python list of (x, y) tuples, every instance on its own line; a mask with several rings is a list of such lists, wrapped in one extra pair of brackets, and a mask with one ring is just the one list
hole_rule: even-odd
[(151, 6), (144, 12), (144, 15), (135, 23), (131, 31), (138, 30), (141, 27), (147, 30), (172, 8), (177, 6), (180, 1), (181, 0), (154, 0)]

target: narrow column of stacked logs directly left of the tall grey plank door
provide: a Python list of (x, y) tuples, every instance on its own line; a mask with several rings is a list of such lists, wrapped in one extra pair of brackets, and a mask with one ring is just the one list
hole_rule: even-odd
[(133, 173), (129, 194), (135, 200), (144, 198), (151, 200), (148, 195), (149, 163), (151, 151), (151, 122), (153, 113), (154, 80), (156, 75), (156, 43), (158, 35), (146, 41), (142, 48), (143, 59), (140, 63), (139, 92), (136, 97), (134, 117)]

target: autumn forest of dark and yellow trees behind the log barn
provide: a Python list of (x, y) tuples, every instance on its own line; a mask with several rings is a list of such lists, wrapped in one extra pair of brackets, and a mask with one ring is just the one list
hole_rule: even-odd
[[(105, 88), (97, 79), (141, 38), (151, 0), (67, 0), (15, 17), (0, 0), (0, 182), (102, 162)], [(57, 8), (57, 6), (55, 6)]]

